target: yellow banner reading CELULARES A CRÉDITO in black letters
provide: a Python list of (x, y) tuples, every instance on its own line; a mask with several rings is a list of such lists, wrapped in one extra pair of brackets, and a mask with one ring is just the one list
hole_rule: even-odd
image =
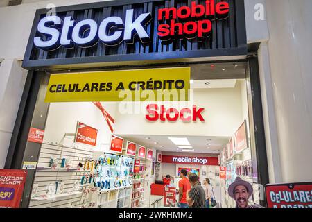
[(187, 101), (190, 67), (52, 74), (46, 103)]

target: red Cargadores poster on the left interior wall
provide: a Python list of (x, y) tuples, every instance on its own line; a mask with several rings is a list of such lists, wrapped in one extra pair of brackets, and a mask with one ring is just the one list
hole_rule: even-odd
[(77, 122), (75, 142), (80, 144), (87, 144), (96, 146), (96, 137), (98, 137), (98, 130), (85, 123)]

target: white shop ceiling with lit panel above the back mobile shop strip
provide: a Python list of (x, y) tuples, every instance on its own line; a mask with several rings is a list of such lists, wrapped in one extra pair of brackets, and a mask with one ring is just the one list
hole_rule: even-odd
[[(170, 135), (118, 135), (126, 140), (135, 142), (138, 145), (146, 146), (146, 148), (156, 148), (164, 152), (183, 152), (182, 148), (178, 148), (168, 137)], [(184, 136), (172, 136), (184, 137)], [(220, 150), (229, 142), (229, 137), (202, 137), (202, 136), (185, 136), (189, 140), (189, 144), (193, 146), (192, 153), (220, 153)], [(210, 144), (210, 145), (209, 145)], [(208, 148), (209, 147), (209, 148)]]

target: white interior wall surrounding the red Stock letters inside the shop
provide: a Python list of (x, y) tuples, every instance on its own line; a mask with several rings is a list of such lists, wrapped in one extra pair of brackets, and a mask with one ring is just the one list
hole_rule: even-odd
[(115, 133), (119, 135), (196, 135), (196, 136), (220, 136), (230, 137), (243, 122), (241, 105), (241, 89), (239, 84), (235, 88), (227, 89), (194, 89), (193, 101), (184, 105), (157, 103), (159, 106), (165, 104), (165, 108), (192, 108), (195, 104), (198, 108), (205, 108), (202, 117), (205, 123), (148, 121), (145, 115), (146, 105), (141, 103), (141, 113), (121, 114), (116, 113)]

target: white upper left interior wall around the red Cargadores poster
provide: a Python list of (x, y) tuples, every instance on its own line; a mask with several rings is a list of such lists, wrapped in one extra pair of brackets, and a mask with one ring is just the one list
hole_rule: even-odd
[[(102, 105), (114, 118), (116, 103), (102, 103)], [(108, 151), (112, 133), (107, 126), (102, 112), (91, 102), (51, 103), (46, 120), (44, 142), (62, 144), (65, 133), (76, 133), (77, 121), (98, 129), (95, 150)]]

